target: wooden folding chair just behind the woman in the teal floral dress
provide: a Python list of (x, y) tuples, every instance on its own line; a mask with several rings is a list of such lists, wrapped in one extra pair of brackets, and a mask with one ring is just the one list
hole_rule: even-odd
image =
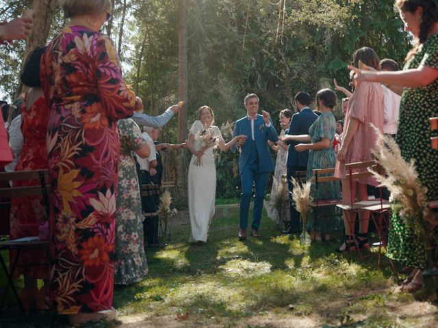
[(334, 173), (335, 173), (335, 168), (313, 169), (312, 170), (311, 182), (313, 184), (315, 184), (316, 197), (313, 200), (313, 202), (311, 202), (310, 206), (313, 208), (313, 222), (315, 223), (315, 225), (317, 224), (319, 219), (342, 215), (342, 213), (333, 214), (333, 215), (320, 215), (320, 210), (325, 209), (325, 208), (329, 208), (329, 207), (333, 207), (336, 209), (336, 208), (338, 208), (337, 207), (338, 204), (342, 204), (342, 200), (339, 200), (339, 199), (337, 199), (337, 200), (320, 200), (318, 198), (318, 189), (320, 188), (321, 183), (339, 181), (339, 178), (336, 178), (335, 176), (333, 176)]

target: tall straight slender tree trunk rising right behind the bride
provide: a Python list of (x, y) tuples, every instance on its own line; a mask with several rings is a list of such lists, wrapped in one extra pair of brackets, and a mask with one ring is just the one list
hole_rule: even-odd
[[(179, 111), (178, 117), (178, 143), (187, 139), (187, 25), (186, 25), (186, 0), (179, 0), (179, 101), (183, 101), (183, 108)], [(177, 172), (176, 196), (182, 206), (187, 206), (187, 161), (184, 152), (178, 152), (179, 161), (175, 161)], [(181, 165), (183, 164), (183, 165)]]

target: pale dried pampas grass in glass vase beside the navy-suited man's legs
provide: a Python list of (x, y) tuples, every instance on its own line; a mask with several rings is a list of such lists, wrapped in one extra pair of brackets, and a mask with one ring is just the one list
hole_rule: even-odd
[(310, 243), (310, 236), (307, 233), (307, 210), (309, 210), (311, 203), (311, 182), (307, 181), (305, 184), (300, 184), (298, 180), (294, 178), (292, 178), (291, 181), (294, 186), (294, 189), (290, 192), (292, 194), (292, 200), (294, 200), (295, 208), (300, 213), (302, 219), (302, 234), (300, 236), (300, 241), (307, 245)]

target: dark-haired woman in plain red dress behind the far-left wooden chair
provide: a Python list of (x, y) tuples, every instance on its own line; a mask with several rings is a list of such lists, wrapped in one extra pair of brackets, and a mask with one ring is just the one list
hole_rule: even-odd
[[(25, 94), (21, 107), (21, 124), (14, 124), (11, 133), (11, 143), (20, 143), (23, 140), (23, 150), (17, 156), (15, 171), (33, 169), (47, 169), (47, 122), (49, 107), (42, 93), (39, 78), (40, 59), (45, 47), (36, 48), (28, 57), (21, 81), (30, 89)], [(16, 127), (21, 125), (21, 132), (16, 132)], [(11, 128), (10, 126), (10, 128)], [(17, 135), (17, 138), (15, 137)], [(14, 147), (16, 149), (16, 147)], [(25, 187), (40, 184), (38, 180), (16, 181), (13, 187)], [(38, 227), (47, 222), (47, 213), (42, 196), (12, 197), (10, 210), (10, 239), (38, 236)], [(11, 251), (11, 263), (15, 253)], [(14, 277), (24, 275), (25, 287), (20, 299), (23, 307), (29, 309), (36, 307), (38, 310), (47, 309), (49, 305), (49, 271), (44, 265), (35, 265), (47, 258), (45, 249), (27, 249), (21, 251)], [(38, 290), (37, 279), (44, 279), (44, 286)]]

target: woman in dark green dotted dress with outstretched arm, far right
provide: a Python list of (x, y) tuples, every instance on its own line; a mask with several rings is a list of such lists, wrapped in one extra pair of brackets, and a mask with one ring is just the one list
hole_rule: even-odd
[[(397, 0), (396, 6), (417, 44), (409, 52), (404, 70), (400, 72), (357, 72), (356, 81), (374, 81), (389, 85), (402, 94), (396, 141), (406, 161), (415, 161), (415, 168), (428, 201), (438, 199), (438, 151), (430, 145), (428, 119), (438, 115), (438, 1)], [(404, 89), (403, 89), (404, 88)], [(412, 267), (413, 273), (404, 282), (403, 290), (422, 288), (422, 270), (426, 267), (424, 241), (404, 223), (406, 219), (394, 212), (389, 222), (388, 256)]]

